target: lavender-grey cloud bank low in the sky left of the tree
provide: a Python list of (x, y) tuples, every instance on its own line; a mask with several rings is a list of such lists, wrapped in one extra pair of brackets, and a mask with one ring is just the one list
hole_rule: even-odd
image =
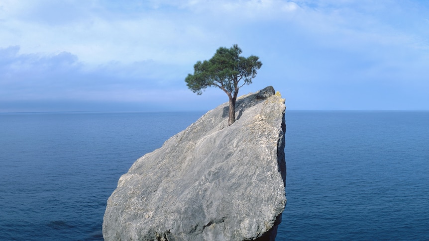
[(88, 68), (68, 52), (18, 52), (18, 46), (0, 49), (0, 100), (148, 101), (155, 92), (171, 92), (178, 85), (184, 89), (176, 67), (153, 61)]

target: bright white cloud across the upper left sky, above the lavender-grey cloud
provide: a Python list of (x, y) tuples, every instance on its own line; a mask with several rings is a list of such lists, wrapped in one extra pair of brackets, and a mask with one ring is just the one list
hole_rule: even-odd
[[(188, 63), (197, 58), (196, 49), (203, 51), (228, 36), (233, 39), (230, 34), (240, 25), (273, 19), (297, 7), (281, 0), (168, 2), (150, 1), (143, 7), (133, 2), (126, 10), (138, 6), (141, 12), (128, 16), (103, 1), (7, 1), (0, 47), (19, 45), (27, 54), (67, 51), (87, 63)], [(232, 44), (232, 39), (224, 42)]]

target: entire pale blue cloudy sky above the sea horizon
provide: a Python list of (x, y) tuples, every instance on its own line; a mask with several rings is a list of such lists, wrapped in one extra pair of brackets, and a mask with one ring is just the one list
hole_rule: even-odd
[(238, 44), (288, 110), (429, 110), (427, 0), (0, 0), (0, 112), (208, 111)]

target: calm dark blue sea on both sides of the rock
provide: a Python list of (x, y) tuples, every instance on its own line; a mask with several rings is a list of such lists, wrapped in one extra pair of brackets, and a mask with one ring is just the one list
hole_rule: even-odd
[[(103, 240), (120, 175), (203, 114), (0, 114), (0, 240)], [(429, 240), (429, 112), (287, 110), (286, 125), (276, 241)]]

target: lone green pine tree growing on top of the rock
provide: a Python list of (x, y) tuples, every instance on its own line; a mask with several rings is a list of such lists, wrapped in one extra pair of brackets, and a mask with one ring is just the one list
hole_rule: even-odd
[[(244, 84), (252, 83), (257, 70), (262, 66), (259, 57), (251, 55), (248, 58), (240, 56), (238, 45), (227, 49), (220, 47), (210, 60), (198, 61), (194, 65), (194, 74), (188, 74), (185, 81), (188, 88), (198, 95), (207, 87), (216, 86), (223, 90), (229, 98), (228, 126), (235, 122), (235, 101), (238, 89)], [(239, 83), (241, 80), (242, 83)]]

